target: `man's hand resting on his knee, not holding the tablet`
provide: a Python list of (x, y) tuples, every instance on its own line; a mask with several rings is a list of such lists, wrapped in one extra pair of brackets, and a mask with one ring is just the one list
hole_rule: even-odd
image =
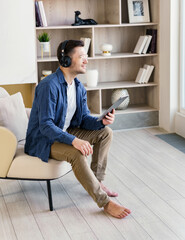
[(81, 140), (79, 138), (75, 138), (72, 141), (73, 147), (78, 149), (83, 155), (88, 156), (93, 153), (92, 146), (88, 141)]

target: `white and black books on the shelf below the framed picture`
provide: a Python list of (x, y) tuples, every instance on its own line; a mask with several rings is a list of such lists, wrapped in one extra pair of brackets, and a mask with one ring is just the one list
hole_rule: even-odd
[(133, 53), (146, 54), (157, 52), (157, 29), (147, 29), (146, 35), (140, 36)]

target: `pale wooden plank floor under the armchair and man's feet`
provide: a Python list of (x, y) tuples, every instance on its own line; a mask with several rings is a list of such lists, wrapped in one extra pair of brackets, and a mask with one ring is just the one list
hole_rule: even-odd
[(100, 210), (73, 173), (52, 182), (0, 180), (1, 240), (185, 239), (185, 154), (158, 128), (114, 132), (105, 183), (132, 210), (122, 220)]

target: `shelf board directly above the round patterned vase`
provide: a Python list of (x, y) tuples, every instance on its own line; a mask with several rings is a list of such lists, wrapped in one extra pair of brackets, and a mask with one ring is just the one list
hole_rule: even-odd
[(157, 83), (149, 82), (149, 83), (143, 83), (138, 84), (132, 81), (123, 81), (123, 82), (101, 82), (98, 83), (96, 87), (87, 87), (85, 85), (85, 88), (87, 91), (91, 90), (103, 90), (103, 89), (117, 89), (117, 88), (138, 88), (138, 87), (154, 87), (158, 86)]

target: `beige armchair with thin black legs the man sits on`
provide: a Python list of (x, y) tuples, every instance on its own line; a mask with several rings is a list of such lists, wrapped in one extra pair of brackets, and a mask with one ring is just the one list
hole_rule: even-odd
[[(8, 99), (9, 94), (0, 88), (0, 108)], [(29, 117), (29, 110), (27, 109)], [(0, 178), (15, 180), (39, 180), (47, 182), (49, 209), (53, 211), (51, 180), (60, 178), (71, 171), (71, 166), (65, 161), (49, 159), (48, 163), (37, 157), (24, 153), (25, 140), (18, 141), (15, 134), (6, 126), (2, 126), (0, 109)]]

